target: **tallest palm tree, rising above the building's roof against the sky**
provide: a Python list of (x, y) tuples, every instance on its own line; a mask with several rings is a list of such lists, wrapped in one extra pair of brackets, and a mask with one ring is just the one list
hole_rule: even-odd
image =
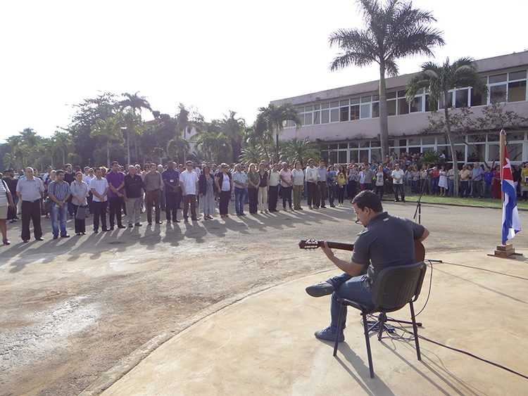
[(365, 29), (340, 29), (330, 34), (330, 46), (339, 46), (339, 53), (330, 70), (350, 65), (379, 65), (379, 136), (382, 158), (389, 154), (389, 127), (386, 108), (385, 75), (398, 75), (396, 60), (416, 55), (432, 56), (432, 47), (444, 45), (439, 30), (430, 27), (436, 22), (432, 13), (412, 8), (401, 0), (358, 0), (363, 11)]

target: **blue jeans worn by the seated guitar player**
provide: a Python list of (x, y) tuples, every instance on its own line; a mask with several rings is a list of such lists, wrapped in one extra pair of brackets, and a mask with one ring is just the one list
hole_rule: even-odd
[[(372, 288), (367, 282), (368, 277), (366, 275), (354, 276), (348, 281), (344, 282), (332, 293), (332, 302), (330, 303), (330, 315), (332, 317), (332, 323), (330, 329), (332, 333), (337, 332), (337, 319), (339, 318), (339, 309), (341, 303), (337, 300), (338, 298), (348, 298), (349, 300), (357, 301), (360, 304), (366, 305), (367, 307), (372, 306)], [(343, 319), (342, 328), (345, 328), (346, 324), (346, 312)]]

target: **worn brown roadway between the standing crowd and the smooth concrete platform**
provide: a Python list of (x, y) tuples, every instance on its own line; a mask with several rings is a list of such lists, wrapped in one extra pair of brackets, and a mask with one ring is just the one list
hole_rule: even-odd
[[(415, 210), (384, 205), (409, 218)], [(0, 251), (0, 394), (78, 395), (137, 347), (216, 302), (332, 268), (322, 253), (296, 244), (353, 242), (363, 227), (351, 219), (344, 207), (58, 241), (42, 219), (45, 241), (29, 244), (18, 243), (17, 223), (8, 229), (13, 244)], [(432, 232), (429, 255), (500, 243), (500, 210), (422, 205), (422, 224)], [(514, 241), (528, 248), (522, 232)]]

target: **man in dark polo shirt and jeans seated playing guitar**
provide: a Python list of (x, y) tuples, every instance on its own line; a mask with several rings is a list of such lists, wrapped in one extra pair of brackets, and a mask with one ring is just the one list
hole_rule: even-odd
[[(365, 230), (356, 238), (351, 261), (337, 258), (326, 242), (322, 247), (329, 260), (345, 274), (306, 288), (306, 293), (313, 297), (332, 293), (332, 323), (327, 328), (315, 332), (315, 337), (321, 340), (335, 341), (339, 298), (348, 298), (368, 305), (372, 300), (372, 291), (379, 272), (386, 267), (413, 264), (414, 240), (422, 242), (429, 236), (429, 231), (424, 226), (384, 212), (382, 202), (372, 191), (361, 191), (352, 203), (358, 221), (365, 226)], [(366, 272), (363, 270), (365, 267)], [(343, 328), (345, 322), (346, 318)], [(339, 342), (342, 341), (343, 333)]]

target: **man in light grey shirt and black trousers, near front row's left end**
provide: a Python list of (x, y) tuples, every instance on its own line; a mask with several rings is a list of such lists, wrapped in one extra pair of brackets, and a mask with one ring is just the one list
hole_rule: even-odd
[(40, 225), (40, 200), (44, 195), (42, 180), (33, 176), (33, 168), (25, 168), (25, 178), (19, 179), (16, 184), (16, 194), (22, 200), (22, 240), (30, 241), (30, 222), (33, 222), (33, 235), (35, 240), (44, 241)]

